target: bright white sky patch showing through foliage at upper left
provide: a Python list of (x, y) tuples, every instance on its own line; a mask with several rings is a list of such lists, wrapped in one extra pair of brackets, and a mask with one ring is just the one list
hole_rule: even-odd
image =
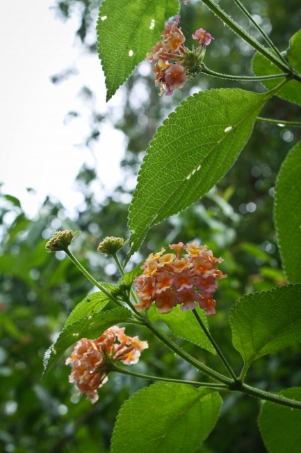
[[(95, 164), (82, 143), (89, 131), (88, 112), (64, 125), (70, 110), (84, 112), (78, 97), (83, 85), (97, 94), (106, 111), (104, 76), (97, 56), (79, 56), (74, 46), (76, 19), (61, 22), (50, 0), (0, 2), (0, 182), (34, 215), (45, 195), (53, 194), (72, 211), (81, 203), (73, 181), (84, 162)], [(50, 76), (76, 61), (79, 75), (61, 84)], [(120, 96), (120, 95), (119, 95)], [(108, 105), (116, 106), (118, 94)], [(97, 171), (106, 193), (120, 181), (124, 137), (104, 125), (95, 148)], [(33, 187), (37, 196), (28, 194)], [(99, 194), (101, 199), (103, 194)]]

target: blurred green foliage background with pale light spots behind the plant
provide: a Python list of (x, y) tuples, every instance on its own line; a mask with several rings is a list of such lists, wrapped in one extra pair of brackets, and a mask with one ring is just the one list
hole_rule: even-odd
[[(259, 37), (233, 1), (220, 0), (219, 3), (253, 36)], [(289, 38), (300, 28), (300, 0), (245, 0), (244, 5), (284, 51)], [(94, 53), (97, 59), (96, 45), (87, 38), (94, 33), (96, 40), (97, 3), (63, 0), (56, 3), (56, 9), (64, 20), (81, 13), (77, 43), (86, 52)], [(215, 37), (206, 54), (206, 66), (238, 75), (251, 73), (252, 49), (223, 26), (202, 1), (190, 0), (186, 7), (181, 6), (180, 24), (186, 36), (203, 26)], [(57, 82), (56, 77), (53, 81)], [(117, 268), (110, 258), (97, 254), (97, 245), (104, 236), (129, 236), (128, 204), (124, 201), (130, 199), (131, 190), (127, 187), (133, 184), (127, 181), (136, 177), (156, 127), (189, 94), (225, 86), (263, 91), (257, 82), (224, 82), (199, 76), (163, 102), (154, 87), (153, 75), (143, 75), (143, 71), (136, 70), (123, 88), (124, 105), (120, 106), (122, 114), (119, 115), (122, 119), (112, 118), (115, 128), (127, 136), (122, 161), (126, 184), (99, 204), (93, 191), (97, 174), (94, 169), (83, 167), (76, 184), (84, 194), (85, 206), (77, 210), (73, 220), (51, 197), (45, 199), (38, 216), (29, 219), (22, 209), (22, 200), (1, 192), (1, 451), (108, 452), (118, 409), (130, 394), (148, 382), (111, 375), (99, 391), (98, 403), (92, 406), (84, 397), (75, 396), (74, 387), (68, 383), (70, 369), (63, 360), (41, 381), (44, 351), (56, 339), (72, 308), (92, 291), (90, 283), (61, 252), (47, 254), (44, 244), (54, 229), (80, 229), (81, 235), (76, 237), (72, 248), (74, 254), (97, 279), (115, 282), (119, 277)], [(66, 105), (66, 114), (67, 111)], [(97, 151), (104, 117), (95, 110), (90, 115), (90, 135), (84, 139), (87, 146), (93, 142), (97, 153), (105, 153), (105, 150)], [(300, 108), (273, 98), (262, 116), (297, 120)], [(168, 243), (195, 239), (206, 243), (215, 256), (223, 257), (221, 267), (228, 278), (221, 282), (216, 293), (217, 315), (210, 318), (209, 325), (236, 371), (241, 369), (242, 362), (231, 347), (227, 314), (231, 304), (243, 294), (264, 291), (285, 282), (272, 223), (273, 187), (279, 166), (300, 138), (301, 131), (297, 128), (257, 123), (243, 153), (218, 186), (194, 206), (154, 227), (140, 254), (131, 261), (131, 266), (135, 266), (147, 254)], [(199, 378), (194, 369), (174, 357), (146, 330), (139, 332), (137, 328), (129, 328), (129, 332), (149, 341), (149, 350), (143, 353), (136, 371)], [(218, 360), (209, 353), (192, 344), (183, 346), (222, 370)], [(261, 358), (252, 365), (247, 381), (274, 391), (300, 385), (300, 360), (297, 347)], [(255, 399), (240, 394), (224, 397), (220, 421), (200, 452), (265, 452), (257, 429), (258, 413), (259, 401)]]

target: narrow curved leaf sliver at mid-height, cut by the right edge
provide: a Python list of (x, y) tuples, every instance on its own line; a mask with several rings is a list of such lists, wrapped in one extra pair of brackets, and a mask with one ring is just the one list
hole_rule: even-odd
[(301, 282), (301, 141), (286, 156), (275, 185), (274, 220), (289, 282)]

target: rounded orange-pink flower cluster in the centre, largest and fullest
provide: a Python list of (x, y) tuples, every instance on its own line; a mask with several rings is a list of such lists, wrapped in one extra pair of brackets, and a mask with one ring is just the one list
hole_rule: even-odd
[(158, 313), (169, 313), (180, 304), (185, 312), (198, 303), (206, 314), (215, 314), (215, 280), (227, 277), (217, 268), (222, 258), (215, 258), (206, 245), (196, 243), (172, 244), (170, 249), (177, 254), (165, 253), (162, 248), (161, 252), (150, 254), (141, 266), (143, 275), (134, 279), (142, 300), (136, 310), (149, 309), (154, 302)]

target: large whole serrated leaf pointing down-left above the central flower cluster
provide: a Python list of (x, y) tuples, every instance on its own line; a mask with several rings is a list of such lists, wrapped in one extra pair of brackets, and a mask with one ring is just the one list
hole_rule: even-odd
[(129, 209), (131, 254), (148, 229), (193, 204), (234, 164), (270, 93), (202, 91), (156, 131)]

